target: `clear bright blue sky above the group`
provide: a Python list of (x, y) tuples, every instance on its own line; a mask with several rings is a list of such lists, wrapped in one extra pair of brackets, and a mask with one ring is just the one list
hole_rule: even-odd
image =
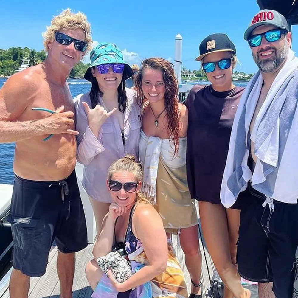
[[(256, 0), (1, 1), (0, 48), (27, 46), (41, 50), (41, 32), (46, 30), (53, 15), (67, 7), (85, 13), (91, 23), (93, 40), (114, 42), (130, 64), (153, 56), (173, 61), (175, 36), (180, 33), (183, 65), (187, 69), (199, 69), (194, 59), (201, 40), (209, 34), (224, 32), (236, 45), (241, 63), (237, 70), (257, 70), (243, 40), (247, 25), (259, 10)], [(293, 39), (295, 51), (298, 26), (293, 27)]]

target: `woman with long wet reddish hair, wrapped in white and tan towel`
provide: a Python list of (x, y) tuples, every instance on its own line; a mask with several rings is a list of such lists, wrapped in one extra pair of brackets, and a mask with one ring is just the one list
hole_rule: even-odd
[(201, 297), (198, 217), (186, 178), (187, 108), (178, 102), (178, 82), (170, 62), (149, 58), (136, 77), (143, 106), (139, 156), (144, 169), (142, 191), (154, 203), (168, 238), (178, 233), (190, 273), (191, 298)]

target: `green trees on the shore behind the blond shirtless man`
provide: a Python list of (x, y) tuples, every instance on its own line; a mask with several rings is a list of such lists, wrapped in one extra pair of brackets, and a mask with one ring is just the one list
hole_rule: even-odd
[[(11, 47), (0, 49), (0, 75), (10, 76), (21, 66), (22, 59), (29, 59), (29, 65), (34, 66), (46, 59), (44, 50), (36, 51), (28, 47)], [(83, 78), (90, 64), (79, 62), (70, 72), (71, 78)]]

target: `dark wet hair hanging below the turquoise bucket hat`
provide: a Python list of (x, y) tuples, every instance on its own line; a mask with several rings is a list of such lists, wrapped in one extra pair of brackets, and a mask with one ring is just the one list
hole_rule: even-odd
[[(95, 66), (92, 67), (95, 69)], [(91, 108), (94, 109), (95, 106), (98, 104), (98, 97), (103, 96), (103, 91), (99, 89), (98, 82), (95, 77), (91, 77), (91, 91), (90, 91), (90, 100), (91, 100)], [(122, 80), (120, 85), (117, 88), (118, 91), (118, 109), (121, 113), (125, 111), (126, 105), (127, 105), (127, 96), (126, 96), (126, 90), (125, 90), (125, 80)]]

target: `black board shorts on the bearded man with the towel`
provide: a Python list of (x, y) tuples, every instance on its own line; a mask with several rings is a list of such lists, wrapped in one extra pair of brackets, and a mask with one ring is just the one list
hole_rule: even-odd
[(241, 196), (237, 249), (239, 274), (250, 281), (273, 282), (277, 298), (292, 298), (295, 253), (298, 245), (298, 203), (274, 200), (274, 211), (266, 196), (251, 184)]

